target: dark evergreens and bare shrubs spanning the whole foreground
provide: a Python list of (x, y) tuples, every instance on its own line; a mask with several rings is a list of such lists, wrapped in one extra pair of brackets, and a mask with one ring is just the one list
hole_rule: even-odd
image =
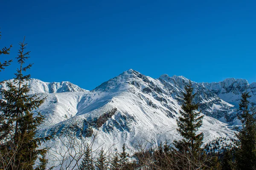
[[(193, 102), (195, 93), (191, 81), (184, 88), (182, 110), (177, 119), (177, 132), (182, 136), (179, 141), (171, 144), (166, 142), (151, 149), (141, 147), (136, 152), (127, 152), (125, 144), (122, 152), (110, 152), (103, 148), (95, 152), (91, 144), (73, 135), (68, 144), (63, 143), (67, 150), (52, 152), (52, 148), (41, 147), (52, 136), (36, 135), (37, 127), (44, 122), (44, 116), (36, 109), (44, 103), (45, 98), (27, 95), (30, 87), (26, 81), (30, 80), (30, 75), (24, 75), (24, 72), (32, 64), (25, 65), (30, 53), (26, 51), (26, 45), (24, 40), (20, 43), (16, 58), (19, 68), (15, 78), (4, 82), (7, 89), (0, 89), (0, 170), (256, 169), (256, 107), (250, 106), (249, 93), (241, 96), (237, 117), (242, 127), (237, 129), (238, 141), (235, 141), (235, 145), (225, 145), (225, 139), (218, 138), (203, 146), (204, 134), (198, 133), (198, 129), (204, 115), (198, 112), (199, 105)], [(1, 49), (0, 55), (9, 55), (11, 47)], [(0, 63), (0, 72), (11, 62)], [(220, 143), (223, 145), (220, 146)], [(56, 158), (57, 165), (49, 165), (48, 162), (53, 160), (47, 159), (47, 153), (52, 154), (49, 158)]]

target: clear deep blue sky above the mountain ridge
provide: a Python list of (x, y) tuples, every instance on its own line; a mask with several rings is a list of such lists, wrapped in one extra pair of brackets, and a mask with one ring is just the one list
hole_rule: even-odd
[[(26, 36), (30, 73), (42, 81), (90, 90), (131, 68), (152, 78), (256, 82), (255, 0), (1, 0), (0, 6), (0, 47), (12, 44), (8, 58), (14, 58)], [(0, 79), (12, 78), (16, 68)]]

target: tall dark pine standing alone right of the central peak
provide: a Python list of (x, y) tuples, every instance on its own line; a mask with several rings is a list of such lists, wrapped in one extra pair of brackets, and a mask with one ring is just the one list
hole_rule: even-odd
[(183, 93), (184, 102), (181, 106), (183, 111), (180, 110), (181, 116), (177, 120), (177, 131), (183, 139), (174, 141), (174, 144), (180, 152), (189, 150), (196, 155), (201, 150), (200, 147), (204, 138), (203, 133), (196, 135), (196, 132), (202, 126), (204, 116), (199, 116), (200, 112), (196, 112), (198, 104), (193, 104), (195, 94), (193, 94), (191, 81), (185, 86), (185, 91)]

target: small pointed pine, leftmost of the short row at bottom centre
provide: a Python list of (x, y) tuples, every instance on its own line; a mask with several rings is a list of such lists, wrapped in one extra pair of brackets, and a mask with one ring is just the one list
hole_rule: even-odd
[(94, 170), (94, 164), (93, 164), (93, 159), (91, 156), (91, 150), (89, 145), (86, 145), (86, 150), (84, 152), (84, 157), (82, 159), (82, 162), (79, 166), (79, 170)]

